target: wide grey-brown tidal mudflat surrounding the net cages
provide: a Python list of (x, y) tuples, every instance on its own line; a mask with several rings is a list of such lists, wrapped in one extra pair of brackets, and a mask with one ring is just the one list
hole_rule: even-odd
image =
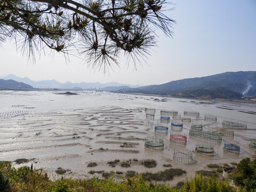
[[(190, 177), (195, 171), (209, 170), (208, 164), (230, 165), (255, 154), (249, 148), (250, 141), (256, 140), (255, 104), (93, 91), (55, 93), (0, 92), (0, 161), (12, 161), (15, 167), (33, 163), (35, 169), (43, 168), (52, 179), (61, 175), (100, 178), (112, 170), (117, 175), (154, 173), (166, 167), (181, 168)], [(154, 120), (146, 119), (145, 108), (156, 109)], [(169, 124), (167, 134), (155, 133), (162, 109), (178, 111), (180, 117), (184, 111), (198, 111), (199, 116), (183, 122), (181, 131), (172, 130)], [(217, 122), (205, 119), (205, 114), (216, 116)], [(222, 136), (221, 142), (189, 134), (193, 122), (202, 124), (203, 131), (218, 133), (227, 119), (246, 122), (247, 129), (235, 129), (234, 137)], [(186, 135), (186, 145), (171, 142), (173, 132)], [(145, 138), (149, 135), (163, 138), (164, 149), (146, 148)], [(223, 151), (225, 143), (239, 145), (240, 153)], [(212, 146), (214, 155), (195, 153), (198, 144)], [(174, 161), (174, 149), (190, 151), (193, 165)], [(22, 158), (24, 161), (15, 162)], [(174, 185), (183, 178), (170, 183)]]

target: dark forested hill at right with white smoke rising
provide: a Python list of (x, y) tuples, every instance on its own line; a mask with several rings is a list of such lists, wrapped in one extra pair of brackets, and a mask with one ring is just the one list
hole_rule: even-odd
[(256, 71), (226, 72), (171, 81), (161, 85), (120, 89), (121, 93), (160, 94), (189, 98), (241, 98), (256, 94)]

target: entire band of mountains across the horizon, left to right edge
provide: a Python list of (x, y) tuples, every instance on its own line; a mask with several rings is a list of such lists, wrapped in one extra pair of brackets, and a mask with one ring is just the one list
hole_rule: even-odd
[[(27, 77), (20, 78), (15, 75), (7, 75), (2, 78), (12, 80), (5, 81), (3, 79), (0, 79), (0, 89), (31, 89), (35, 86), (44, 86), (66, 89), (92, 88), (104, 91), (113, 91), (118, 93), (156, 94), (186, 98), (256, 98), (256, 71), (226, 72), (206, 77), (181, 79), (178, 81), (171, 81), (169, 83), (161, 85), (148, 85), (141, 87), (120, 84), (117, 82), (110, 82), (104, 84), (101, 84), (99, 82), (66, 82), (61, 84), (55, 80), (35, 82)], [(25, 83), (29, 85), (26, 85)], [(31, 87), (30, 85), (33, 87)]]

